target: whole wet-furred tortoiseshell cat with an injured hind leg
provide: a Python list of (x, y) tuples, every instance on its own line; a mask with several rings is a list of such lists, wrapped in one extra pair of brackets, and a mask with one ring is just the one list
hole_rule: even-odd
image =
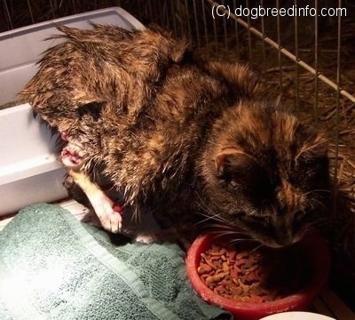
[(122, 208), (173, 224), (202, 213), (279, 247), (319, 219), (327, 140), (265, 99), (247, 66), (195, 60), (149, 28), (59, 30), (66, 42), (44, 53), (22, 96), (61, 132), (69, 193), (80, 186), (104, 228), (120, 232)]

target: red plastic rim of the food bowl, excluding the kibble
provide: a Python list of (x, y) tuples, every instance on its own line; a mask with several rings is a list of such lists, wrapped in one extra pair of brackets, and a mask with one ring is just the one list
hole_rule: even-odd
[[(217, 242), (220, 244), (220, 238)], [(329, 249), (325, 239), (314, 233), (296, 244), (302, 246), (307, 257), (306, 262), (316, 271), (302, 290), (285, 298), (261, 303), (227, 299), (210, 290), (197, 273), (201, 253), (206, 252), (213, 243), (214, 236), (211, 234), (199, 236), (193, 242), (186, 256), (187, 276), (203, 300), (231, 312), (236, 319), (256, 320), (279, 312), (304, 310), (327, 282), (331, 263)]]

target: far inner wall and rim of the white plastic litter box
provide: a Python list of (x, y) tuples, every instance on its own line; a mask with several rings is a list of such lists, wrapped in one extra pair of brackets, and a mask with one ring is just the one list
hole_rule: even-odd
[(75, 28), (91, 28), (88, 21), (112, 24), (122, 28), (144, 28), (122, 8), (114, 7), (46, 21), (0, 34), (0, 106), (16, 100), (16, 95), (36, 73), (36, 61), (42, 52), (60, 39), (44, 41), (59, 31), (53, 23)]

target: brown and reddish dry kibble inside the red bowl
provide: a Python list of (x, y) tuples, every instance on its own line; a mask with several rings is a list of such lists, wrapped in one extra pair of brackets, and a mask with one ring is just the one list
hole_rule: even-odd
[(312, 276), (302, 248), (271, 249), (212, 244), (201, 253), (201, 280), (217, 294), (234, 300), (265, 302), (301, 290)]

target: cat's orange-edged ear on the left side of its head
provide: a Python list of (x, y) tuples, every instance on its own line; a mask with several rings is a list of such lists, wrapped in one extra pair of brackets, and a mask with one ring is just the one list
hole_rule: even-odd
[(254, 162), (254, 159), (239, 148), (224, 148), (215, 158), (219, 177), (224, 177), (235, 170), (246, 170), (251, 162)]

